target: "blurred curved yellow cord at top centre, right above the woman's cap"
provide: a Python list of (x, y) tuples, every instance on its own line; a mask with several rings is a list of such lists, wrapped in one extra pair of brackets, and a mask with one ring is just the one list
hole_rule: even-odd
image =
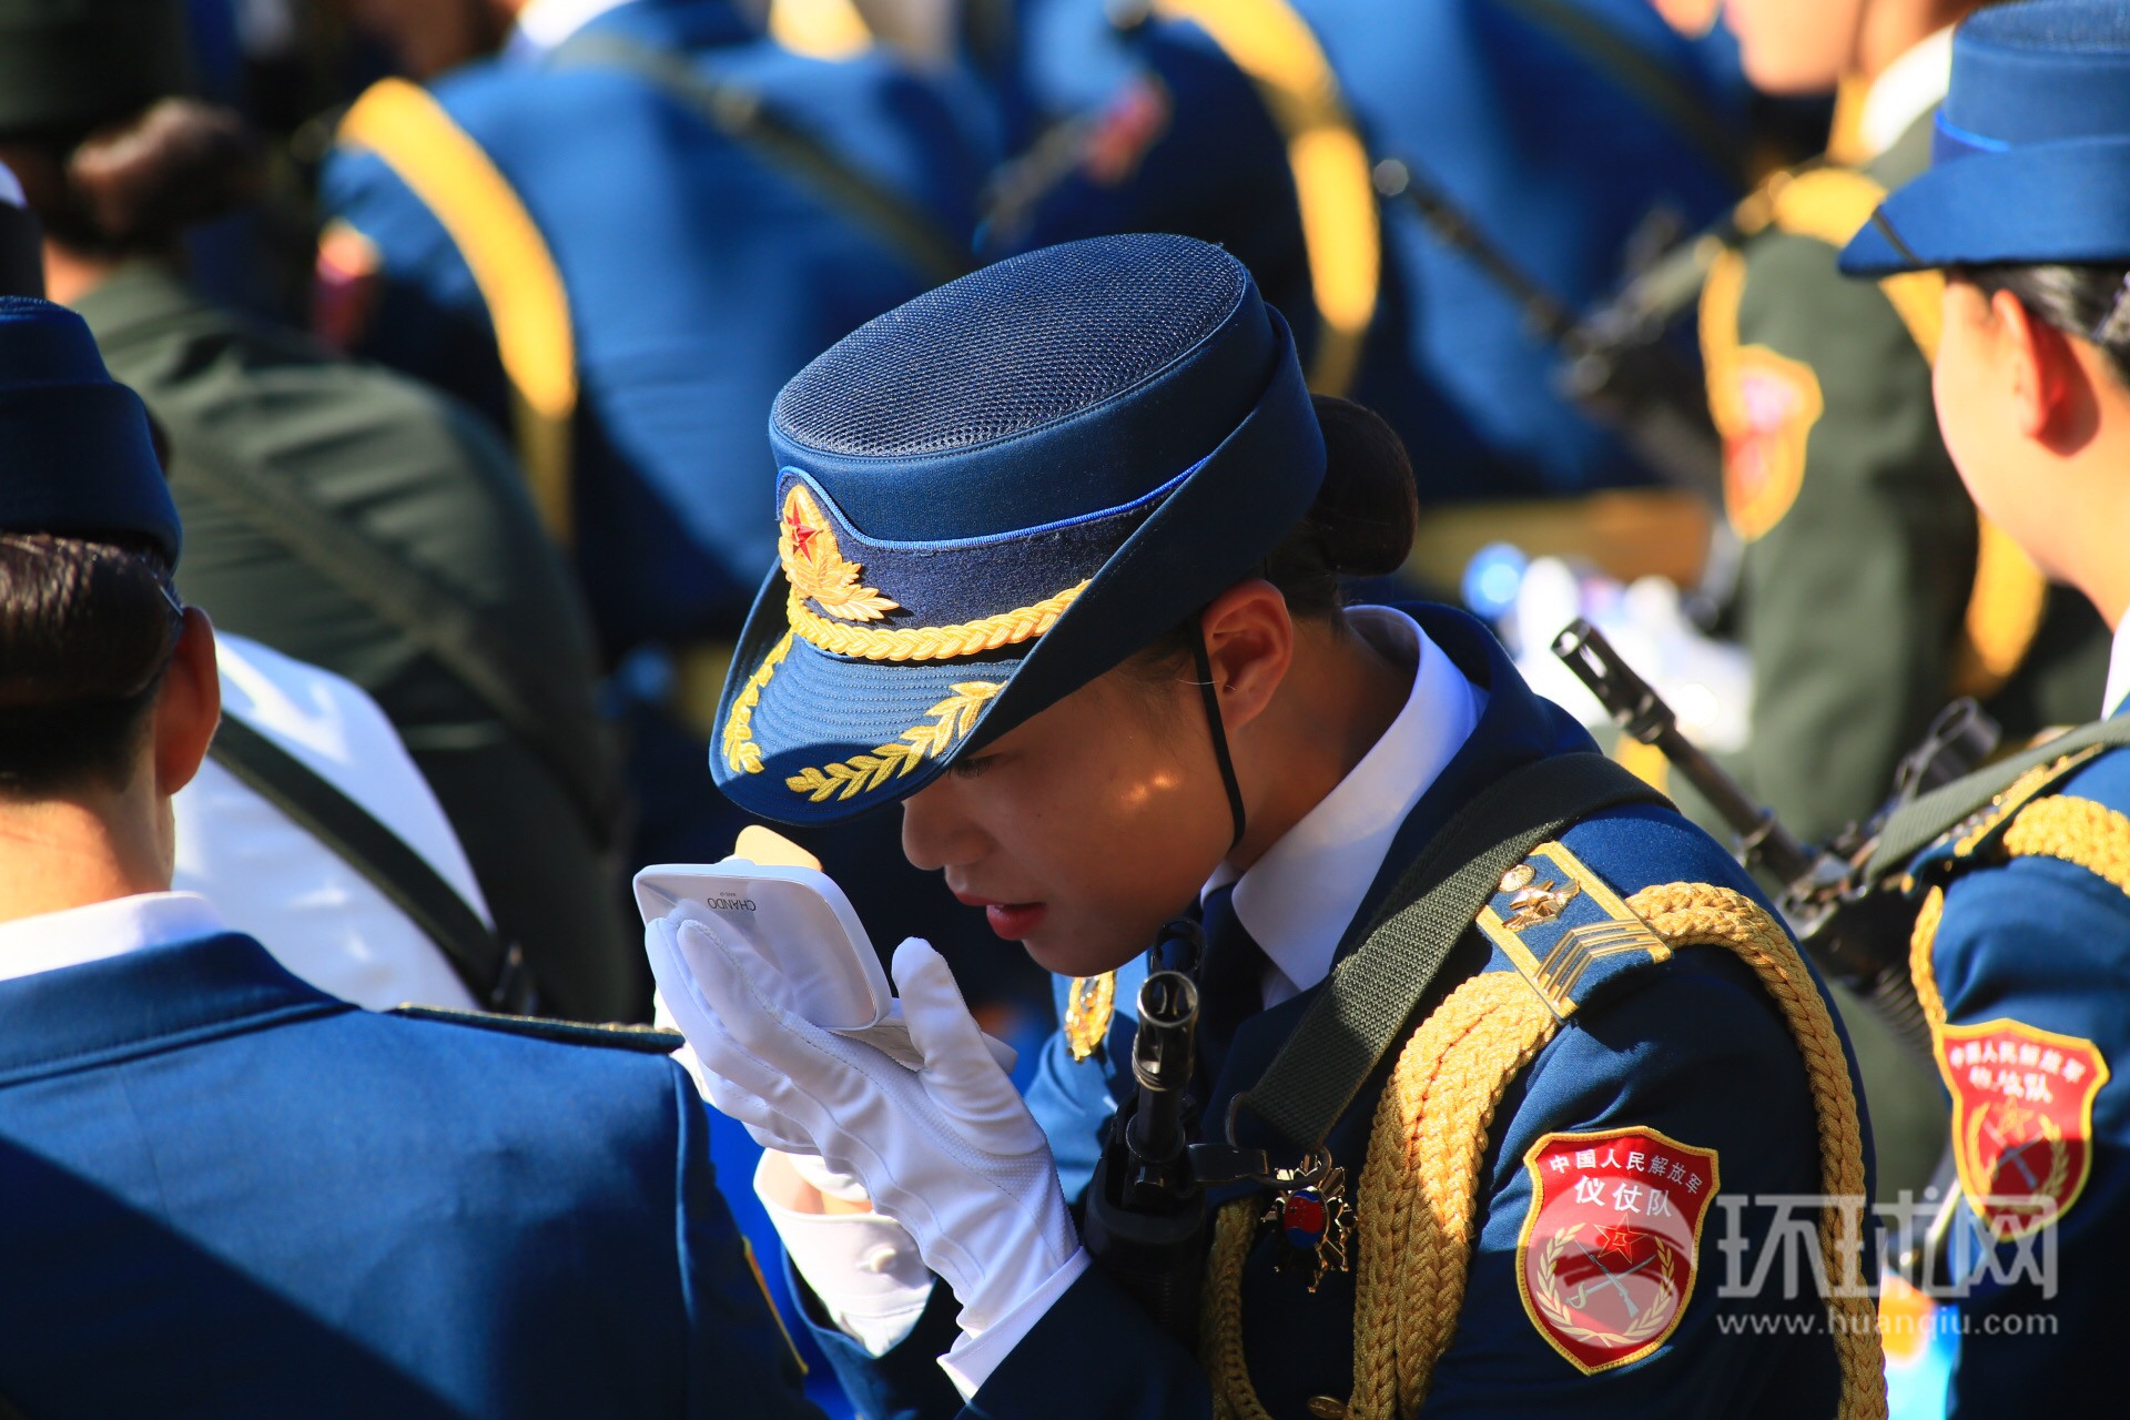
[(1203, 30), (1250, 77), (1287, 141), (1310, 294), (1323, 324), (1310, 356), (1310, 390), (1346, 394), (1376, 319), (1382, 232), (1367, 149), (1323, 45), (1287, 0), (1154, 0), (1154, 13)]

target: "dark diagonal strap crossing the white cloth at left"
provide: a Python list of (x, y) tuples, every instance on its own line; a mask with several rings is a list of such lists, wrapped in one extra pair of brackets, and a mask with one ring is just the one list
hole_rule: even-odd
[(530, 977), (518, 950), (505, 950), (466, 898), (368, 809), (232, 715), (222, 717), (209, 754), (405, 911), (475, 1001), (509, 1009), (530, 1005)]

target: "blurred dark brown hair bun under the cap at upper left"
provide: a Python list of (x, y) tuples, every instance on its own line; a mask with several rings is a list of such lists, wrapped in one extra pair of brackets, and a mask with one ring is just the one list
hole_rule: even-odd
[(89, 134), (66, 162), (75, 211), (98, 245), (160, 247), (258, 194), (262, 145), (245, 121), (196, 98), (164, 98)]

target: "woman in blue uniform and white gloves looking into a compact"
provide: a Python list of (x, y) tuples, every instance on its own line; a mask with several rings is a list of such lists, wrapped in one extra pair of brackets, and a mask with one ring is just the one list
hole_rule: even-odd
[[(1768, 1194), (1808, 1199), (1791, 1231), (1836, 1277), (1864, 1262), (1817, 1207), (1868, 1192), (1817, 984), (1646, 790), (1538, 811), (1598, 760), (1476, 622), (1340, 609), (1342, 573), (1404, 556), (1412, 475), (1374, 415), (1312, 402), (1240, 262), (1182, 236), (1001, 262), (809, 364), (771, 439), (780, 568), (720, 788), (794, 824), (899, 800), (912, 862), (1071, 979), (1022, 1103), (920, 941), (910, 1069), (701, 924), (650, 928), (711, 1099), (780, 1150), (756, 1184), (863, 1411), (1883, 1414), (1862, 1288), (1702, 1275), (1719, 1235), (1730, 1262), (1770, 1243)], [(1536, 830), (1500, 856), (1474, 800)], [(1470, 903), (1378, 928), (1416, 920), (1423, 860), (1478, 864)], [(1316, 1186), (1274, 1179), (1267, 1233), (1265, 1184), (1212, 1182), (1197, 1341), (1069, 1211), (1131, 1092), (1118, 1003), (1186, 913), (1197, 1130)], [(1429, 954), (1389, 1009), (1359, 986)], [(1323, 1003), (1346, 1043), (1389, 1016), (1384, 1047), (1308, 1045)], [(1353, 1086), (1299, 1126), (1267, 1086), (1291, 1039)]]

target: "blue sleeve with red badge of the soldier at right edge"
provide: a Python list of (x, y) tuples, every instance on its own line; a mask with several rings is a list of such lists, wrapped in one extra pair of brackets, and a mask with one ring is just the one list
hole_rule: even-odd
[[(2124, 941), (2130, 896), (2055, 858), (2013, 858), (1945, 892), (1932, 952), (1947, 1005), (1938, 1067), (1957, 1092), (1964, 1184), (2068, 1196), (2038, 1233), (1960, 1258), (1957, 1414), (2090, 1411), (2130, 1326), (2115, 1275), (2130, 1256), (2130, 1088), (2113, 1077), (2130, 1047)], [(1972, 1211), (1966, 1222), (1972, 1237)]]

